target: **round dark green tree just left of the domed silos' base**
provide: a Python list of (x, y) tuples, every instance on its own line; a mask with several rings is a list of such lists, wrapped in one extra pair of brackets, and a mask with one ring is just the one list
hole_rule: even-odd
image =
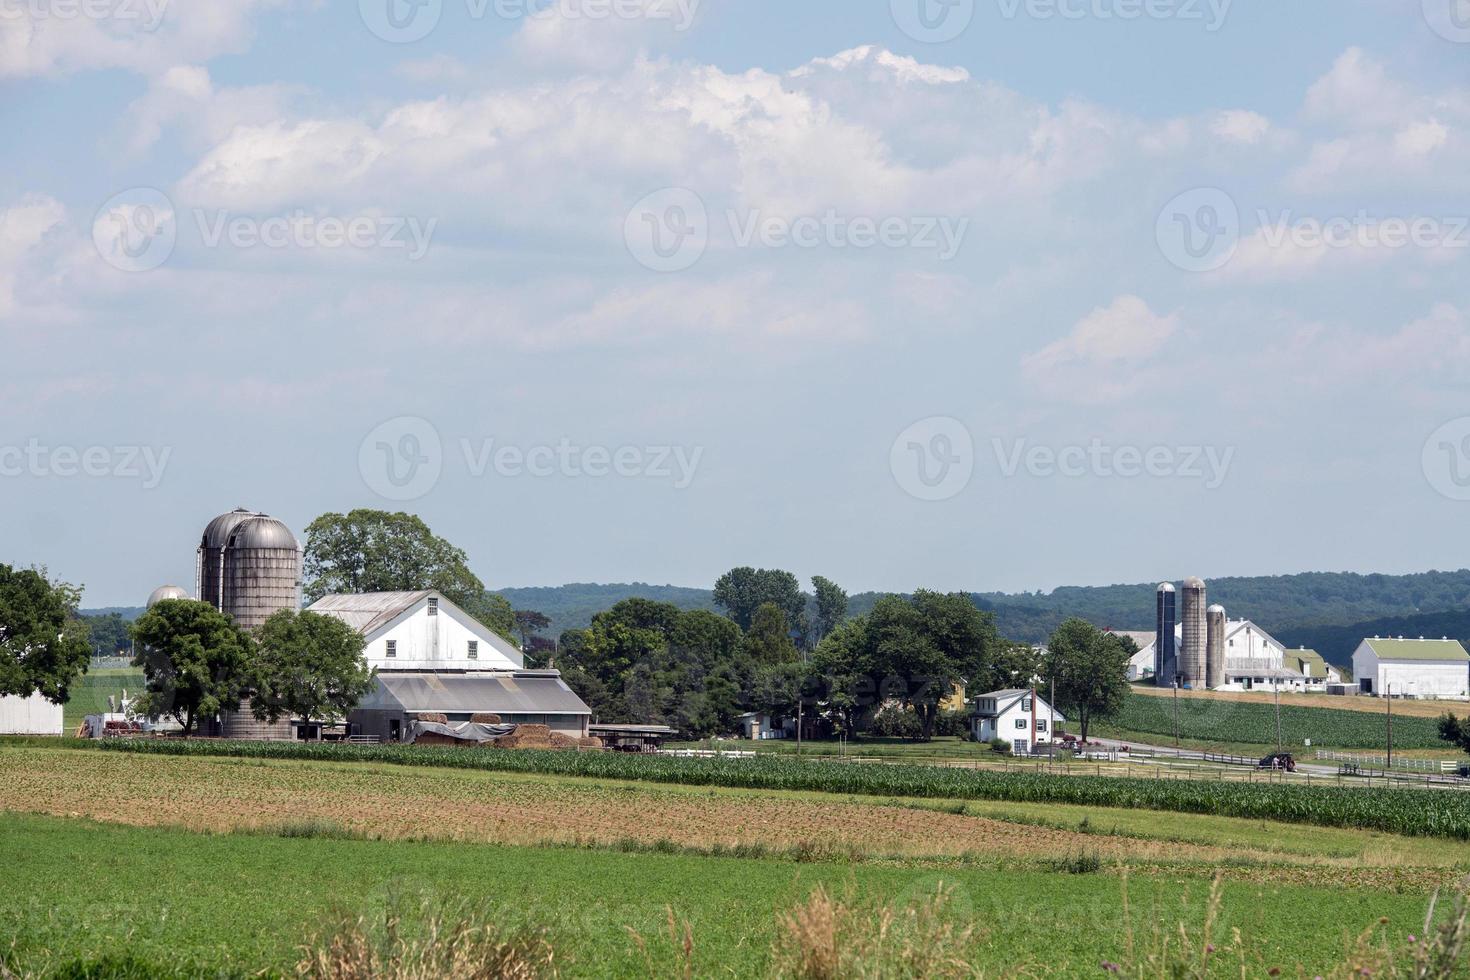
[(201, 718), (240, 707), (254, 641), (207, 602), (163, 599), (132, 624), (146, 692), (138, 710), (168, 714), (191, 735)]

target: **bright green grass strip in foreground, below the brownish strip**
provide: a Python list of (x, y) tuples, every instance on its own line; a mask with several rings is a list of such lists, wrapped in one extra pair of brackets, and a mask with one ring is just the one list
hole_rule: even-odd
[[(394, 896), (490, 898), (507, 926), (545, 926), (570, 977), (644, 977), (629, 940), (650, 940), (659, 973), (673, 958), (667, 911), (694, 934), (697, 976), (756, 976), (775, 911), (819, 883), (856, 901), (900, 907), (956, 889), (953, 908), (985, 932), (991, 974), (1019, 967), (1088, 976), (1119, 959), (1122, 887), (1111, 873), (933, 870), (923, 865), (791, 864), (679, 854), (619, 854), (472, 843), (390, 843), (320, 836), (206, 836), (9, 814), (0, 862), (25, 887), (0, 889), (0, 936), (12, 968), (57, 968), (126, 954), (191, 974), (287, 971), (315, 923), (366, 914)], [(1089, 870), (1091, 870), (1091, 862)], [(1058, 865), (1060, 868), (1060, 865)], [(1104, 871), (1107, 868), (1102, 868)], [(1127, 883), (1135, 921), (1197, 927), (1208, 880), (1139, 876)], [(1389, 918), (1417, 930), (1424, 895), (1352, 887), (1226, 883), (1220, 934), (1239, 927), (1269, 964), (1307, 976), (1341, 958), (1351, 936)], [(7, 942), (9, 946), (9, 942)], [(4, 951), (0, 949), (0, 955)]]

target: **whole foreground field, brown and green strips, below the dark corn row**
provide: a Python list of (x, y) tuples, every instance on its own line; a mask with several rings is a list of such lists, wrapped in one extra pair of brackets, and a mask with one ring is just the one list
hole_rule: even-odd
[(272, 976), (331, 915), (465, 898), (545, 929), (564, 976), (682, 976), (685, 924), (692, 976), (761, 976), (816, 887), (870, 923), (941, 883), (986, 976), (1088, 976), (1129, 923), (1139, 948), (1198, 936), (1216, 873), (1244, 973), (1327, 976), (1379, 917), (1401, 946), (1470, 868), (1464, 842), (1126, 808), (28, 746), (0, 748), (0, 810), (21, 976), (109, 952)]

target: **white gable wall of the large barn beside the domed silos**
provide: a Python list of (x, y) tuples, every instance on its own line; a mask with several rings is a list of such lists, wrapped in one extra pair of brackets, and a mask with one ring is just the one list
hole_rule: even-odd
[[(479, 642), (479, 658), (469, 658), (469, 641)], [(398, 655), (388, 658), (388, 641), (395, 641)], [(385, 670), (516, 670), (525, 658), (514, 645), (447, 599), (440, 599), (438, 616), (429, 616), (428, 599), (419, 599), (398, 619), (368, 638), (363, 657), (369, 667)]]

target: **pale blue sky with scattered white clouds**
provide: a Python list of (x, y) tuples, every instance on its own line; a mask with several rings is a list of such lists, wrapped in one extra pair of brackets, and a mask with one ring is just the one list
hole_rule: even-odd
[(0, 561), (1461, 567), (1470, 0), (0, 0)]

